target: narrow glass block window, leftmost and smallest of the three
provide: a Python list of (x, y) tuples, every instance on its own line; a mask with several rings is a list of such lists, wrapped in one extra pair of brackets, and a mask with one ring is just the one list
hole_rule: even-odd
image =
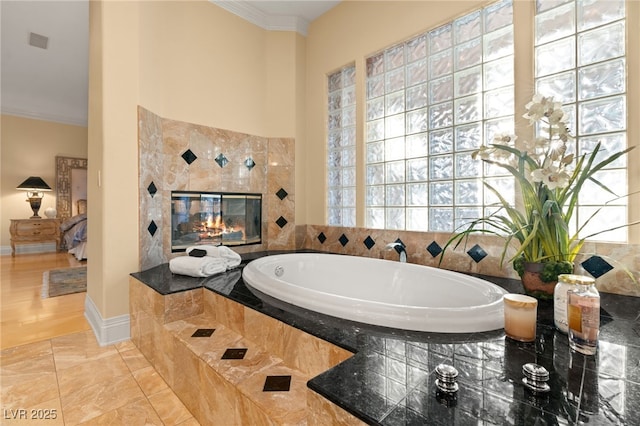
[(355, 66), (328, 77), (327, 223), (356, 226)]

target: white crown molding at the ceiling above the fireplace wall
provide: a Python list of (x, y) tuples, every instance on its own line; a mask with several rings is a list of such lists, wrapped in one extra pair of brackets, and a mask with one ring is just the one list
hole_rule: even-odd
[(209, 0), (240, 18), (269, 31), (295, 31), (307, 35), (309, 22), (296, 16), (269, 15), (242, 1)]

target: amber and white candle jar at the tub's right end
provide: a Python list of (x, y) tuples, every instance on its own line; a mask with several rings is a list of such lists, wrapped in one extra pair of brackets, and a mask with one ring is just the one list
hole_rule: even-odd
[(536, 340), (538, 300), (524, 294), (505, 294), (503, 301), (507, 337), (520, 342)]

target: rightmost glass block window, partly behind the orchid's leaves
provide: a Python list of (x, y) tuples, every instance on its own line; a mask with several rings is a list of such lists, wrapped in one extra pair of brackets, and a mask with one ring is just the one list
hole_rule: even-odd
[[(538, 0), (535, 17), (536, 91), (564, 104), (576, 155), (598, 142), (606, 152), (626, 148), (626, 58), (624, 0)], [(598, 173), (618, 195), (627, 193), (626, 157)], [(598, 209), (583, 236), (627, 223), (626, 199), (596, 184), (581, 191), (577, 223)], [(606, 204), (606, 205), (605, 205)], [(577, 226), (574, 224), (574, 226)], [(626, 242), (625, 228), (593, 239)]]

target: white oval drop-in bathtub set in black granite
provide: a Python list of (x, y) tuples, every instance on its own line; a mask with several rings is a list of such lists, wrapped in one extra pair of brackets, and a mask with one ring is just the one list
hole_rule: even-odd
[(469, 333), (504, 327), (488, 281), (411, 263), (322, 253), (266, 256), (245, 266), (249, 286), (323, 314), (404, 330)]

